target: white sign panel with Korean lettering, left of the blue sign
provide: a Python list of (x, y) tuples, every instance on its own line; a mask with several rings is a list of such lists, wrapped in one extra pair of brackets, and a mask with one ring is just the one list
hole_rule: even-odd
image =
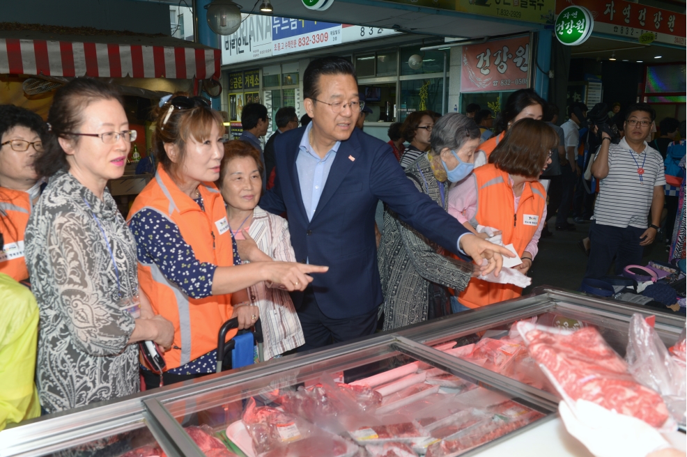
[(245, 62), (272, 55), (272, 17), (242, 14), (241, 26), (222, 36), (222, 63)]

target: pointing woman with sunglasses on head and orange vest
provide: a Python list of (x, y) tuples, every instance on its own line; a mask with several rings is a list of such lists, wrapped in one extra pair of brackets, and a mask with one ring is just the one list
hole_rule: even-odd
[[(175, 327), (164, 354), (165, 385), (216, 371), (217, 334), (238, 318), (238, 328), (259, 318), (246, 288), (261, 281), (302, 291), (309, 273), (327, 268), (288, 262), (240, 265), (236, 241), (215, 186), (224, 155), (224, 125), (203, 98), (175, 94), (155, 110), (155, 179), (137, 196), (128, 221), (138, 244), (139, 279), (155, 313)], [(236, 266), (234, 266), (236, 265)], [(233, 337), (236, 330), (229, 332)], [(148, 387), (160, 375), (144, 370)]]

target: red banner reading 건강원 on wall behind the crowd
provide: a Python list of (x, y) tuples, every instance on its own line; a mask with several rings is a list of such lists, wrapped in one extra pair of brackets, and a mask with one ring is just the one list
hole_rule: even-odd
[(461, 92), (516, 91), (529, 86), (529, 36), (463, 46)]

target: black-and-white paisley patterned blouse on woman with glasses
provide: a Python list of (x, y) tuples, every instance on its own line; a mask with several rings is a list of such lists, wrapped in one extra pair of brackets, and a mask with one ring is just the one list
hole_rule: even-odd
[(134, 318), (121, 308), (117, 281), (125, 297), (138, 290), (136, 243), (107, 189), (101, 201), (69, 173), (56, 173), (33, 208), (25, 242), (40, 309), (43, 408), (138, 392), (139, 350), (127, 344)]

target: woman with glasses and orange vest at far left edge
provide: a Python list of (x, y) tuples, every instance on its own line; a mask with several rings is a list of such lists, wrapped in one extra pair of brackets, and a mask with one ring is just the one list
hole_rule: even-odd
[(43, 184), (33, 160), (43, 151), (41, 136), (46, 132), (38, 114), (12, 104), (0, 105), (0, 273), (15, 281), (29, 279), (24, 231)]

